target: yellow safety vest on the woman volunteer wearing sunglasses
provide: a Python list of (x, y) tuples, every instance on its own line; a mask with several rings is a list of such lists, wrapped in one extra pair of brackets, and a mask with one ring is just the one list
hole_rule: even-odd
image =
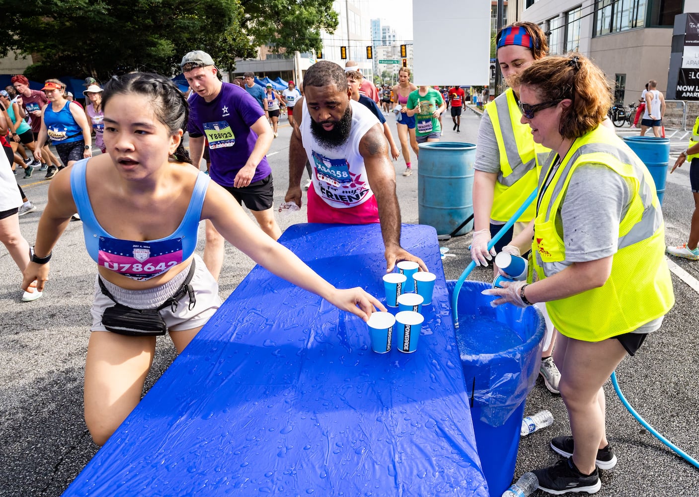
[(540, 195), (532, 243), (532, 265), (538, 278), (545, 278), (542, 263), (565, 260), (556, 215), (575, 168), (582, 164), (603, 164), (630, 181), (631, 201), (619, 224), (618, 250), (605, 284), (546, 305), (552, 322), (565, 336), (599, 341), (665, 315), (675, 298), (665, 262), (663, 215), (652, 177), (628, 146), (602, 126), (575, 141)]

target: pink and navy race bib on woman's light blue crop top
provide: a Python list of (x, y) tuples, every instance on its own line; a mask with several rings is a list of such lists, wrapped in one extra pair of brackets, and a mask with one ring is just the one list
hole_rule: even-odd
[(136, 242), (99, 237), (97, 264), (136, 281), (150, 280), (182, 262), (182, 238)]

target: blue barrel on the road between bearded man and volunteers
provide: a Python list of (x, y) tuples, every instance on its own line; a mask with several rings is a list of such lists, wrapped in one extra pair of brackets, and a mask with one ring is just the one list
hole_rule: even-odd
[[(420, 143), (417, 216), (438, 235), (448, 235), (473, 215), (473, 143)], [(473, 229), (473, 219), (456, 236)]]

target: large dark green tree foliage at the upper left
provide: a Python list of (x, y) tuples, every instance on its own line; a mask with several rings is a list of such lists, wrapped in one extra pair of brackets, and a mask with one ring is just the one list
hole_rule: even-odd
[[(64, 74), (105, 80), (135, 69), (168, 75), (179, 72), (190, 50), (205, 50), (233, 69), (237, 57), (255, 57), (272, 38), (276, 50), (319, 48), (319, 29), (337, 26), (332, 10), (319, 14), (326, 4), (332, 1), (308, 0), (302, 8), (296, 0), (0, 0), (7, 31), (0, 55), (31, 54), (36, 63), (25, 74), (36, 80)], [(284, 7), (300, 14), (270, 16)]]

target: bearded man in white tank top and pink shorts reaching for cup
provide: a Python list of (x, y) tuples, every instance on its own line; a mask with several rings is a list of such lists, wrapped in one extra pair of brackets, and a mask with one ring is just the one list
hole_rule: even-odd
[(285, 201), (301, 207), (301, 177), (308, 161), (308, 222), (379, 222), (387, 273), (397, 261), (424, 262), (401, 247), (401, 209), (396, 171), (384, 131), (370, 110), (351, 98), (347, 76), (334, 62), (319, 61), (303, 78), (303, 99), (294, 106)]

